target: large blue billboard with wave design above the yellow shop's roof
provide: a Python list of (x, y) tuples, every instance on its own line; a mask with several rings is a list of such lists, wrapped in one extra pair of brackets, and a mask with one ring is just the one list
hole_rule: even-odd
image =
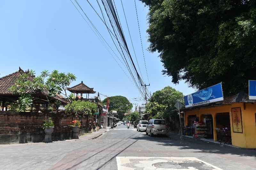
[(224, 100), (221, 83), (184, 96), (185, 107), (198, 106)]

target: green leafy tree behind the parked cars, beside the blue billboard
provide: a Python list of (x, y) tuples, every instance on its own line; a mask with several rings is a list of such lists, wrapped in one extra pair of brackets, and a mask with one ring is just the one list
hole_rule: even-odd
[(153, 93), (152, 99), (146, 104), (146, 113), (155, 113), (154, 119), (166, 119), (171, 116), (177, 101), (184, 103), (183, 94), (170, 86)]

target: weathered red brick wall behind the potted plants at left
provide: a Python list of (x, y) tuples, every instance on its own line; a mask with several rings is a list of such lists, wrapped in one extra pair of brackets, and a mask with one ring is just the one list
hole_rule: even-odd
[[(42, 124), (48, 117), (52, 117), (54, 122), (52, 141), (72, 137), (72, 128), (68, 125), (75, 119), (75, 115), (0, 111), (0, 144), (43, 142)], [(87, 128), (87, 118), (87, 115), (78, 115), (78, 119), (81, 121), (79, 136), (91, 130), (91, 128)]]

